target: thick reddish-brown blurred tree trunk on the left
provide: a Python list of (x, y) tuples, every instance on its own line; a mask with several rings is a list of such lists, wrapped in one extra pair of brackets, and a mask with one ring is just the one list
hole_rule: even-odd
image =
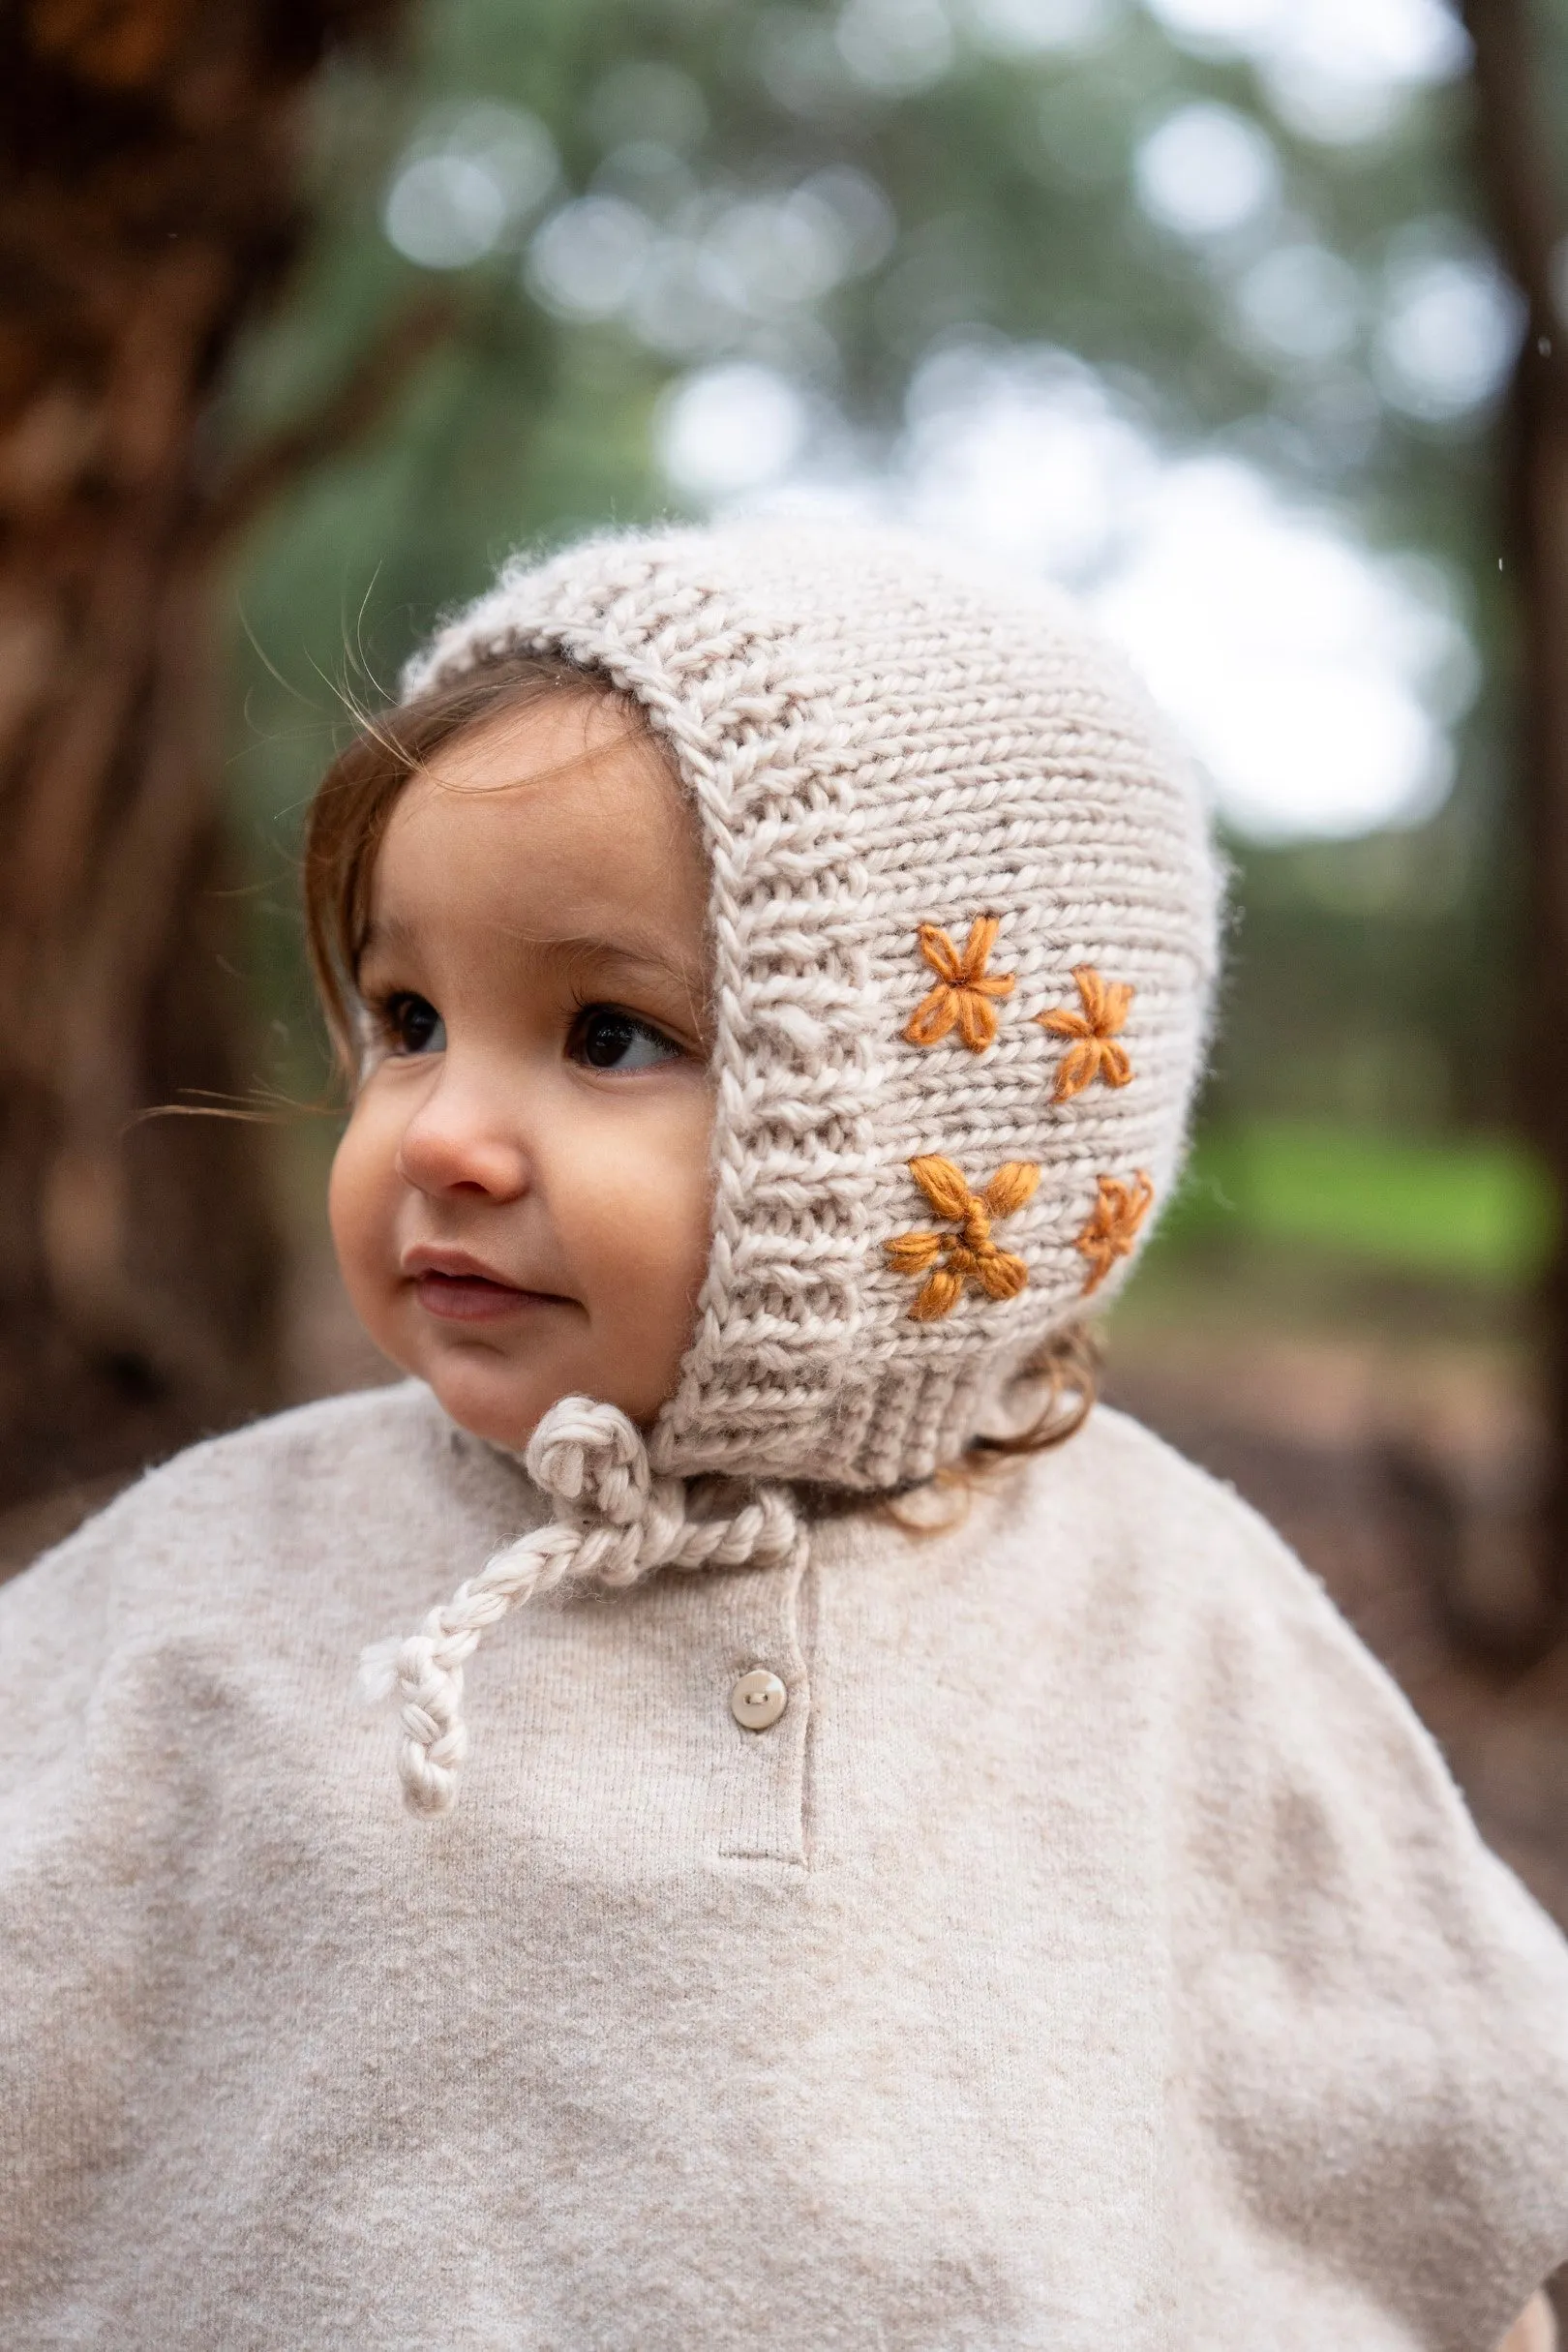
[[(301, 99), (397, 0), (14, 0), (0, 26), (0, 1503), (275, 1399), (209, 579), (329, 430), (223, 477)], [(360, 381), (341, 407), (353, 423)]]

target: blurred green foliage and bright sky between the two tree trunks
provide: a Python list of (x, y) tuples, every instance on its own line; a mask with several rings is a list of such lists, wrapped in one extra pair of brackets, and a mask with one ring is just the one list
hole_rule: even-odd
[(442, 0), (400, 64), (329, 61), (317, 240), (237, 430), (418, 275), (456, 301), (230, 593), (266, 1082), (320, 1073), (289, 861), (343, 687), (388, 691), (515, 546), (879, 503), (1086, 593), (1215, 771), (1237, 922), (1171, 1272), (1218, 1242), (1204, 1287), (1375, 1315), (1415, 1277), (1514, 1329), (1552, 1221), (1500, 1049), (1523, 318), (1467, 52), (1436, 0)]

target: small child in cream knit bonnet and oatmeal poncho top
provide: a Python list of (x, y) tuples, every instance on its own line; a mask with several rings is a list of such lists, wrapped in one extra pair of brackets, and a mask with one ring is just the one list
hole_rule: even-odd
[(893, 534), (590, 541), (306, 877), (414, 1378), (0, 1595), (0, 2343), (1490, 2352), (1568, 1955), (1086, 1409), (1215, 962), (1117, 663)]

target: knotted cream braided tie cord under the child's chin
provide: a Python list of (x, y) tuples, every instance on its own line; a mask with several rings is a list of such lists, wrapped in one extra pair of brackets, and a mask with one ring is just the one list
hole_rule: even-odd
[(397, 1771), (414, 1813), (449, 1813), (468, 1755), (463, 1665), (489, 1625), (559, 1583), (635, 1585), (654, 1569), (780, 1566), (799, 1543), (795, 1505), (759, 1486), (729, 1519), (689, 1519), (686, 1482), (654, 1477), (642, 1437), (614, 1404), (562, 1397), (524, 1463), (557, 1517), (494, 1552), (416, 1635), (376, 1642), (360, 1675), (371, 1698), (397, 1698)]

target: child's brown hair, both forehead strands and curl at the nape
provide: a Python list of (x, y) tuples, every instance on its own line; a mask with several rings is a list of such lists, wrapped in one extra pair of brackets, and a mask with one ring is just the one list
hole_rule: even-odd
[[(369, 929), (376, 851), (397, 795), (454, 736), (482, 727), (503, 710), (543, 701), (545, 694), (578, 699), (599, 694), (625, 715), (628, 731), (649, 731), (637, 699), (597, 670), (559, 654), (498, 654), (430, 687), (402, 708), (360, 713), (360, 734), (322, 776), (306, 823), (306, 943), (331, 1047), (348, 1084), (360, 1065), (353, 1002)], [(957, 1463), (938, 1470), (929, 1491), (969, 1491), (1020, 1456), (1065, 1444), (1093, 1409), (1098, 1369), (1098, 1348), (1084, 1324), (1048, 1338), (1020, 1374), (1046, 1385), (1039, 1416), (1011, 1437), (971, 1439)], [(900, 1501), (886, 1503), (886, 1510), (910, 1534), (936, 1531), (936, 1522), (905, 1517)]]

